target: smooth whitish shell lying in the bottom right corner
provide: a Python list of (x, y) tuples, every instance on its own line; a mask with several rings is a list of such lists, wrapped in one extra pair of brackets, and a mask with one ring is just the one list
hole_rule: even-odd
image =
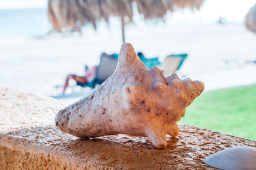
[(220, 169), (256, 169), (256, 148), (237, 146), (214, 153), (204, 159), (205, 164)]

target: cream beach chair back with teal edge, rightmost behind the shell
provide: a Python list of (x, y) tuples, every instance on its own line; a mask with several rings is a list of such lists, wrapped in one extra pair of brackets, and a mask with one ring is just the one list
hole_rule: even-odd
[(164, 75), (169, 75), (179, 70), (187, 56), (188, 54), (171, 54), (170, 56), (167, 56), (160, 66), (164, 71)]

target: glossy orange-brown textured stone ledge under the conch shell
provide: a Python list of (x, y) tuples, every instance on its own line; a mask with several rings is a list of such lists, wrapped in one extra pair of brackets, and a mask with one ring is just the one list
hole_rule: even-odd
[(148, 137), (111, 135), (83, 140), (54, 125), (63, 104), (13, 89), (0, 88), (0, 169), (213, 169), (204, 158), (255, 141), (179, 125), (176, 138), (156, 150)]

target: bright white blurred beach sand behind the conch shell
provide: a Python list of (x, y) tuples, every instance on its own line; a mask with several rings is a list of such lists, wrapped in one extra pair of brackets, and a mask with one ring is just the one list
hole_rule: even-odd
[[(83, 75), (84, 65), (98, 65), (100, 54), (118, 53), (121, 30), (112, 26), (85, 29), (83, 36), (0, 37), (0, 86), (38, 95), (61, 94), (68, 73)], [(163, 61), (169, 54), (188, 53), (177, 72), (205, 83), (205, 90), (256, 83), (256, 35), (242, 22), (226, 25), (173, 22), (164, 26), (128, 25), (127, 42), (147, 58)], [(74, 82), (73, 82), (74, 83)], [(79, 90), (78, 90), (79, 91)], [(67, 104), (83, 95), (62, 99)]]

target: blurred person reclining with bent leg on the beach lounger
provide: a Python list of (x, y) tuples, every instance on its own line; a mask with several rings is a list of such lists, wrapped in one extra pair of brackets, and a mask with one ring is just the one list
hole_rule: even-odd
[(88, 69), (88, 66), (85, 66), (85, 73), (84, 76), (78, 76), (76, 74), (69, 74), (67, 75), (65, 84), (63, 86), (63, 94), (65, 93), (65, 90), (67, 89), (68, 86), (68, 81), (70, 79), (73, 79), (74, 81), (76, 81), (76, 84), (79, 86), (86, 86), (86, 84), (90, 83), (93, 81), (93, 79), (95, 78), (96, 75), (96, 71), (97, 71), (97, 66), (93, 66), (92, 69)]

